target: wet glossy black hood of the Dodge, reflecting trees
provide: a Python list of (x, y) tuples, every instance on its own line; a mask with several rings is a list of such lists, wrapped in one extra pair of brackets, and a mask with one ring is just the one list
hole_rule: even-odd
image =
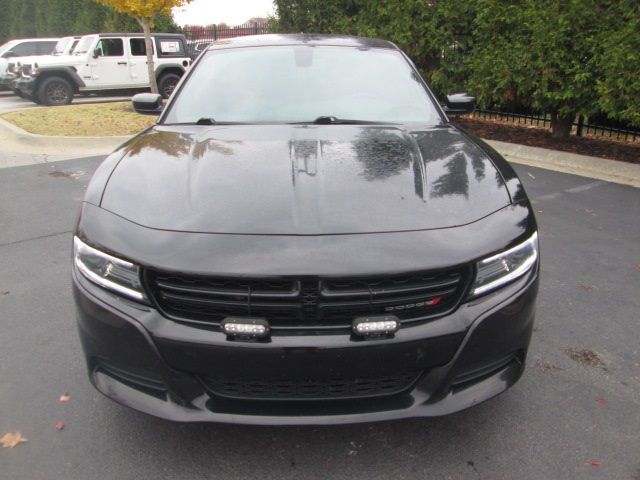
[(156, 126), (120, 153), (100, 206), (162, 230), (428, 230), (511, 203), (489, 157), (450, 127)]

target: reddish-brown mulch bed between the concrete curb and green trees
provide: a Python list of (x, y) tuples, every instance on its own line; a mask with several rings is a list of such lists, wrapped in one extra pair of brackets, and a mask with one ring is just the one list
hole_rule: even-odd
[(549, 148), (563, 152), (610, 158), (640, 164), (640, 143), (624, 143), (593, 137), (571, 136), (553, 138), (547, 128), (513, 125), (493, 120), (458, 117), (454, 123), (477, 137), (503, 142), (519, 143), (531, 147)]

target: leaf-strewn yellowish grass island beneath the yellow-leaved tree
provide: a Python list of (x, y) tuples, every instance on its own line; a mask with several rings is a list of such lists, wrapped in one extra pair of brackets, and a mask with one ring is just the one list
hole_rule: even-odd
[(29, 133), (71, 137), (134, 135), (157, 118), (134, 112), (131, 102), (30, 108), (1, 117)]

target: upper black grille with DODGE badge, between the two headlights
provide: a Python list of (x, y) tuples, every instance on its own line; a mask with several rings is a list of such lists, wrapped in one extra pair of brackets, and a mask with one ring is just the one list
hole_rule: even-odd
[(278, 330), (349, 329), (356, 317), (393, 314), (403, 324), (453, 310), (469, 269), (384, 277), (233, 279), (146, 271), (161, 311), (217, 327), (225, 317), (265, 318)]

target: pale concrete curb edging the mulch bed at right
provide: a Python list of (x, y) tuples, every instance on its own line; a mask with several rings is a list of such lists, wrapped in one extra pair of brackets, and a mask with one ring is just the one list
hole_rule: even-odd
[(497, 140), (485, 140), (485, 142), (513, 163), (640, 188), (640, 164)]

